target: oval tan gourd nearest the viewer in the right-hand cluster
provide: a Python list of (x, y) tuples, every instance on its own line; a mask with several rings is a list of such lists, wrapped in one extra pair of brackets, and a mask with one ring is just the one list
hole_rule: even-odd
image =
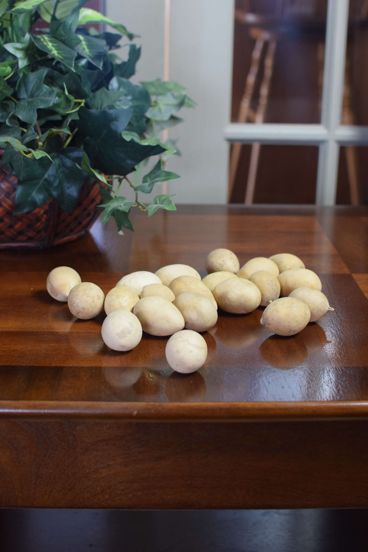
[(310, 317), (311, 312), (303, 301), (281, 297), (266, 306), (260, 323), (279, 336), (293, 336), (306, 327)]

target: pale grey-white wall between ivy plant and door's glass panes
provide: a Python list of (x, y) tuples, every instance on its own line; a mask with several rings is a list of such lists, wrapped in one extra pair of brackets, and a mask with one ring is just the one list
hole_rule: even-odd
[[(106, 0), (106, 15), (141, 35), (135, 40), (142, 54), (132, 80), (163, 78), (164, 6), (164, 0)], [(181, 177), (168, 183), (178, 204), (227, 201), (223, 129), (230, 120), (232, 35), (232, 0), (171, 0), (169, 78), (183, 84), (197, 103), (179, 113), (184, 123), (169, 133), (179, 137), (182, 152), (168, 163), (168, 170)]]

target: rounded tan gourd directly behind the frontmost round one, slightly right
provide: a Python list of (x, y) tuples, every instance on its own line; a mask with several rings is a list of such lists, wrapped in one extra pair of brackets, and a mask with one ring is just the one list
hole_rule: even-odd
[(181, 293), (175, 298), (173, 305), (182, 313), (187, 330), (205, 332), (217, 322), (217, 307), (200, 293)]

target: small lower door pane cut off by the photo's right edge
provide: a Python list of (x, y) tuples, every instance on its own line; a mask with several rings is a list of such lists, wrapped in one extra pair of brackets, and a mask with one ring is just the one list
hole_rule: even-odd
[(340, 147), (337, 181), (338, 205), (368, 204), (368, 147)]

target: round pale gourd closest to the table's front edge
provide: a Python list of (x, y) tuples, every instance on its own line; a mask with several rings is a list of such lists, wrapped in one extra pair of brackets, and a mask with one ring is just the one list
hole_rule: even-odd
[(200, 333), (182, 330), (168, 339), (165, 355), (173, 370), (191, 374), (206, 362), (207, 343)]

